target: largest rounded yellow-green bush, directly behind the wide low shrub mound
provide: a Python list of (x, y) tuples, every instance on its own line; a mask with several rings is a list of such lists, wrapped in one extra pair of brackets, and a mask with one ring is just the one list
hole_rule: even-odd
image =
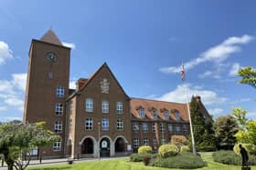
[(161, 145), (158, 148), (158, 154), (163, 158), (177, 155), (177, 153), (178, 148), (176, 145)]

